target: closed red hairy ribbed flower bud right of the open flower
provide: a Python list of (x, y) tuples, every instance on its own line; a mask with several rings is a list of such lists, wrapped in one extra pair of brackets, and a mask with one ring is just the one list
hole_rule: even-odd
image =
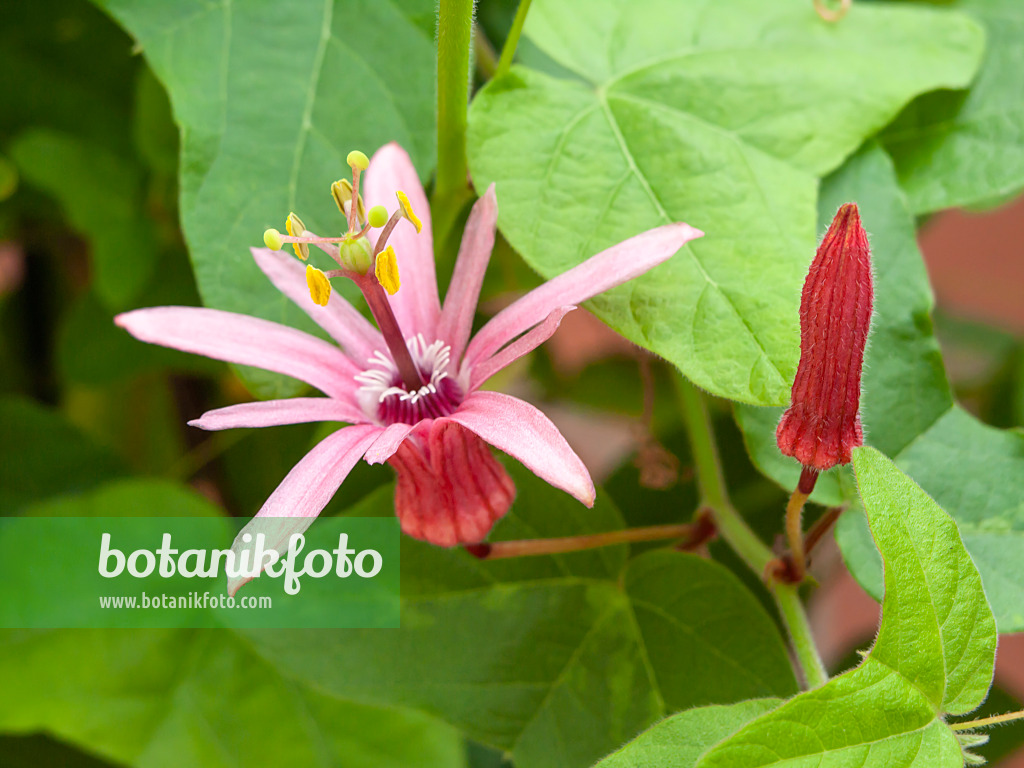
[(854, 203), (839, 209), (800, 301), (800, 366), (779, 451), (815, 472), (847, 464), (864, 443), (860, 371), (871, 325), (871, 254)]

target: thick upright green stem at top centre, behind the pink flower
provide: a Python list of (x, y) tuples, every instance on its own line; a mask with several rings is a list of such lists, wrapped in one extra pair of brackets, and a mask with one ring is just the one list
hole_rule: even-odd
[(443, 244), (469, 199), (466, 116), (473, 0), (440, 0), (437, 12), (437, 176), (434, 242)]

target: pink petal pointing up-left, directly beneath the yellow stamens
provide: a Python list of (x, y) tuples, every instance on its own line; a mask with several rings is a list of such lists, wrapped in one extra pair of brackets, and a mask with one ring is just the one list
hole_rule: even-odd
[(297, 258), (269, 248), (251, 250), (259, 268), (278, 290), (327, 331), (357, 365), (365, 365), (375, 350), (384, 349), (384, 337), (380, 331), (337, 292), (331, 294), (327, 306), (313, 303), (306, 285), (305, 266)]

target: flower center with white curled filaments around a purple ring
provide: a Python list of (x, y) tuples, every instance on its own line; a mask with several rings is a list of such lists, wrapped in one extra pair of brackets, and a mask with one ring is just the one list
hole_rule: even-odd
[(422, 334), (409, 339), (407, 345), (425, 382), (420, 388), (407, 388), (394, 360), (380, 349), (370, 358), (371, 368), (355, 377), (362, 411), (384, 426), (439, 419), (462, 402), (464, 389), (447, 370), (452, 347), (440, 340), (428, 345)]

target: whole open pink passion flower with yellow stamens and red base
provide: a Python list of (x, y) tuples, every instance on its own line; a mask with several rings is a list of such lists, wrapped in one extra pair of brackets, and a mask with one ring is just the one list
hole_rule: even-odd
[[(593, 506), (590, 474), (554, 424), (529, 403), (480, 387), (546, 341), (575, 304), (646, 272), (701, 232), (668, 224), (612, 246), (514, 301), (470, 338), (495, 242), (494, 185), (473, 206), (442, 305), (430, 212), (409, 156), (392, 143), (369, 162), (366, 197), (376, 204), (369, 220), (358, 191), (366, 156), (353, 153), (349, 161), (353, 183), (332, 187), (349, 220), (347, 236), (317, 238), (292, 215), (290, 237), (274, 230), (269, 231), (278, 237), (268, 237), (278, 248), (293, 244), (300, 258), (308, 245), (318, 246), (341, 269), (322, 272), (284, 252), (252, 249), (270, 282), (335, 343), (218, 309), (153, 307), (116, 318), (141, 341), (285, 374), (327, 395), (230, 406), (204, 414), (189, 422), (193, 426), (350, 425), (292, 468), (236, 539), (236, 548), (245, 534), (262, 532), (268, 549), (283, 551), (292, 534), (308, 528), (359, 459), (394, 468), (395, 512), (406, 534), (442, 547), (479, 543), (515, 497), (487, 443)], [(374, 227), (382, 228), (374, 232)], [(356, 282), (381, 330), (340, 295), (331, 295), (328, 281), (334, 276)], [(229, 583), (228, 591), (234, 594), (245, 581)]]

